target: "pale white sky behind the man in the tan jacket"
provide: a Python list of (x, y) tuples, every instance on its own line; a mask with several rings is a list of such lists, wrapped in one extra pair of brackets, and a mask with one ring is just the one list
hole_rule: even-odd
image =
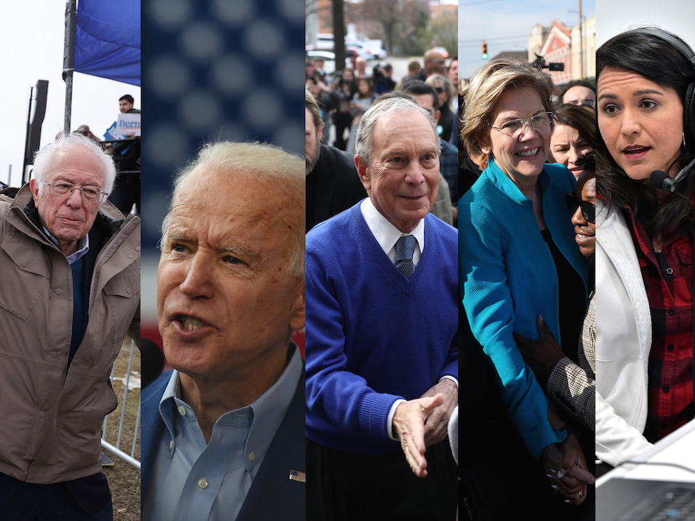
[[(63, 81), (63, 42), (65, 40), (65, 1), (25, 0), (3, 2), (0, 22), (3, 73), (0, 99), (6, 115), (0, 126), (0, 181), (10, 186), (22, 183), (26, 118), (31, 85), (48, 80), (48, 102), (41, 131), (41, 147), (52, 142), (63, 129), (65, 82)], [(99, 138), (115, 122), (118, 99), (123, 94), (135, 98), (140, 108), (140, 88), (118, 81), (76, 72), (72, 92), (72, 130), (89, 125)]]

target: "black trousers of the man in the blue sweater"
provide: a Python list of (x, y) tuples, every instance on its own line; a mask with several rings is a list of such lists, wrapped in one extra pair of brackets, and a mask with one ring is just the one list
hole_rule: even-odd
[(427, 447), (427, 477), (402, 451), (353, 454), (306, 440), (306, 519), (454, 521), (457, 468), (449, 441)]

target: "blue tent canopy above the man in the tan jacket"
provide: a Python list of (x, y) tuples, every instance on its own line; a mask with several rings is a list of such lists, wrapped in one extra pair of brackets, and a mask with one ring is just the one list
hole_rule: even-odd
[(140, 0), (79, 0), (77, 72), (140, 86)]

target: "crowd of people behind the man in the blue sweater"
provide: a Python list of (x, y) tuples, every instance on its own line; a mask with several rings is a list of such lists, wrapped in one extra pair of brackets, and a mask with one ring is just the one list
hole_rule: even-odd
[[(372, 106), (394, 95), (416, 101), (434, 120), (441, 142), (441, 164), (439, 191), (432, 213), (448, 224), (455, 224), (459, 199), (457, 106), (454, 105), (458, 101), (457, 58), (447, 66), (441, 53), (427, 51), (423, 56), (424, 66), (418, 60), (411, 60), (409, 73), (398, 83), (391, 78), (393, 67), (388, 63), (376, 65), (370, 72), (363, 59), (357, 58), (355, 62), (354, 69), (345, 68), (334, 77), (322, 72), (322, 60), (306, 62), (307, 231), (365, 196), (354, 176), (359, 122)], [(329, 145), (331, 135), (335, 138)], [(327, 179), (331, 181), (327, 183)], [(347, 190), (336, 190), (336, 181), (343, 184), (341, 179), (345, 180)]]

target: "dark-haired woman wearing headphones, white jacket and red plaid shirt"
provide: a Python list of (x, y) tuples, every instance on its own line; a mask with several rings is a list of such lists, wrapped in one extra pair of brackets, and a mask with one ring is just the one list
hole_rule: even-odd
[(657, 28), (596, 53), (596, 454), (613, 466), (695, 412), (692, 57)]

